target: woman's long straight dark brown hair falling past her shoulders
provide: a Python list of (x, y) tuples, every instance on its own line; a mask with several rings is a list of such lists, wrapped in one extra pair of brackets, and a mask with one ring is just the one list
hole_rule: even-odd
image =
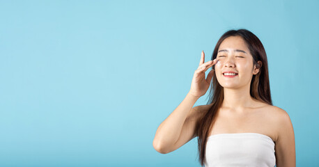
[[(230, 36), (240, 36), (247, 47), (249, 48), (251, 56), (253, 56), (253, 63), (256, 67), (260, 67), (258, 65), (258, 61), (261, 61), (262, 65), (260, 67), (259, 72), (256, 75), (253, 75), (250, 84), (250, 95), (251, 97), (259, 100), (260, 102), (265, 102), (267, 104), (272, 105), (272, 98), (270, 95), (270, 82), (268, 75), (268, 63), (267, 63), (267, 55), (263, 44), (257, 38), (254, 33), (248, 31), (247, 29), (238, 29), (226, 31), (221, 38), (219, 38), (214, 52), (212, 53), (211, 60), (214, 60), (217, 57), (217, 51), (221, 42), (223, 42), (226, 38)], [(214, 69), (214, 66), (212, 67)], [(210, 93), (209, 100), (207, 104), (212, 104), (208, 111), (204, 111), (203, 116), (199, 119), (197, 123), (197, 135), (198, 135), (198, 147), (199, 147), (199, 161), (201, 166), (206, 163), (205, 159), (205, 149), (206, 143), (208, 140), (209, 132), (212, 129), (212, 125), (215, 122), (215, 116), (217, 110), (221, 106), (221, 103), (224, 100), (224, 88), (219, 84), (216, 78), (216, 74), (214, 73), (212, 77), (212, 82), (210, 84)]]

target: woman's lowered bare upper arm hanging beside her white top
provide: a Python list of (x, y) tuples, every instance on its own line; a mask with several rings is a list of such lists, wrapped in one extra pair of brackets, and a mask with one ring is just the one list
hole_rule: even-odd
[(295, 133), (286, 111), (278, 109), (278, 138), (275, 145), (277, 167), (296, 166)]

